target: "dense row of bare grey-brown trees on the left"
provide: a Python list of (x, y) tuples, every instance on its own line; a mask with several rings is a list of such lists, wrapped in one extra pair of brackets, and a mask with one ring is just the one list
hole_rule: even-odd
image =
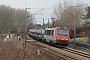
[[(15, 9), (10, 6), (0, 5), (0, 33), (8, 33), (10, 30), (17, 30), (18, 28), (25, 29), (25, 12), (25, 9)], [(27, 16), (30, 16), (27, 22), (33, 23), (34, 16), (31, 17), (32, 14), (30, 12), (28, 12)]]

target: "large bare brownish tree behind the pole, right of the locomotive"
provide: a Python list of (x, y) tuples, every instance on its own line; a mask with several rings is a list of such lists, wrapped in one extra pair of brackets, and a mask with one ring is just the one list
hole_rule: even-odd
[(59, 22), (57, 25), (63, 24), (64, 26), (73, 29), (75, 18), (74, 14), (76, 14), (76, 27), (78, 28), (80, 26), (81, 16), (83, 14), (82, 8), (84, 8), (84, 6), (81, 2), (76, 3), (76, 11), (72, 2), (65, 1), (64, 4), (60, 2), (54, 7), (54, 15), (57, 18), (55, 23), (57, 24)]

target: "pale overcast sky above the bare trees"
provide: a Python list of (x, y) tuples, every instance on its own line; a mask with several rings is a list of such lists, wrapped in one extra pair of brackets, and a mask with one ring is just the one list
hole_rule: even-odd
[[(0, 0), (0, 5), (9, 5), (13, 8), (20, 8), (20, 9), (25, 9), (26, 7), (28, 8), (49, 8), (53, 7), (56, 5), (59, 1), (63, 2), (63, 0)], [(69, 1), (69, 0), (67, 0)], [(72, 0), (73, 2), (76, 0)], [(81, 0), (84, 3), (89, 4), (90, 0)], [(44, 11), (44, 18), (48, 19), (50, 18), (50, 15), (52, 13), (53, 8), (47, 9)], [(31, 13), (35, 13), (38, 11), (38, 9), (32, 9), (29, 10)]]

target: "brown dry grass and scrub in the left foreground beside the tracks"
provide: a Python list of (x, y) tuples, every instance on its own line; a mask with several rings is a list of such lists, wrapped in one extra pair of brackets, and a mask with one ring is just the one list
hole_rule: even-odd
[[(31, 38), (27, 35), (27, 39)], [(23, 43), (18, 42), (17, 39), (6, 42), (0, 39), (0, 60), (60, 60), (48, 52), (43, 53), (42, 50), (38, 55), (39, 48), (35, 42), (26, 43), (26, 47), (21, 47), (23, 47)]]

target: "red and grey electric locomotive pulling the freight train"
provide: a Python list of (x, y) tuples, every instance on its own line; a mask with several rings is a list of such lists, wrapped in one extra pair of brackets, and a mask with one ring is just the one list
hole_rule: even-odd
[(69, 29), (63, 26), (46, 28), (44, 40), (50, 44), (68, 46), (68, 41), (70, 40)]

